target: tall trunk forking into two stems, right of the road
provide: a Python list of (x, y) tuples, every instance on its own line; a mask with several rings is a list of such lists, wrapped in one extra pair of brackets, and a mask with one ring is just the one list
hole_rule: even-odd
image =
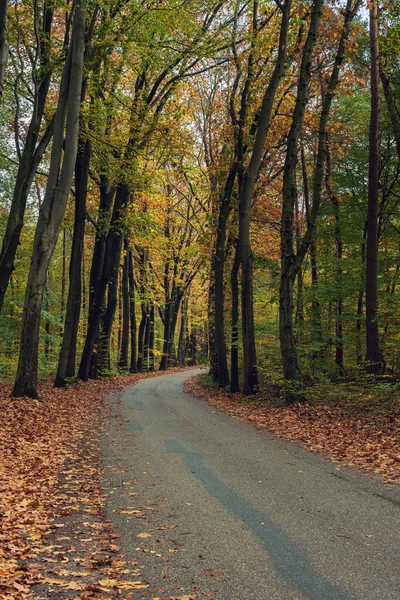
[(296, 352), (293, 331), (293, 285), (308, 252), (315, 234), (322, 197), (322, 185), (325, 172), (326, 127), (328, 123), (332, 99), (339, 81), (339, 74), (345, 55), (346, 41), (350, 24), (360, 6), (360, 0), (348, 0), (344, 13), (344, 23), (335, 57), (334, 66), (324, 97), (318, 135), (318, 151), (313, 182), (313, 204), (310, 210), (307, 230), (295, 254), (293, 243), (294, 207), (297, 197), (296, 166), (298, 159), (298, 142), (302, 130), (305, 109), (308, 102), (308, 88), (311, 79), (311, 63), (314, 46), (319, 30), (323, 0), (314, 0), (308, 36), (305, 42), (300, 68), (300, 80), (297, 88), (295, 110), (287, 140), (287, 151), (283, 175), (283, 206), (281, 223), (281, 285), (279, 310), (279, 336), (282, 354), (283, 373), (287, 383), (287, 401), (301, 400), (299, 390), (301, 372)]

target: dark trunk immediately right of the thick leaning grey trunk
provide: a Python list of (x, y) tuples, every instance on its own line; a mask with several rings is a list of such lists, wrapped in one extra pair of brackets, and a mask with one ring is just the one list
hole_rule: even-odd
[(75, 163), (75, 220), (69, 263), (69, 289), (65, 315), (64, 335), (58, 360), (54, 387), (66, 385), (67, 377), (74, 377), (76, 345), (82, 300), (82, 258), (85, 239), (86, 196), (91, 156), (91, 142), (81, 132)]

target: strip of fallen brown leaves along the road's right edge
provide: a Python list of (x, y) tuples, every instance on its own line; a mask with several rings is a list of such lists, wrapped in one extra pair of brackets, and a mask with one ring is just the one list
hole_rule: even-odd
[(204, 388), (200, 376), (185, 382), (187, 393), (206, 400), (231, 416), (289, 439), (332, 460), (375, 473), (387, 483), (400, 483), (400, 441), (393, 424), (376, 427), (368, 419), (346, 418), (338, 408), (294, 404), (266, 408), (240, 395)]

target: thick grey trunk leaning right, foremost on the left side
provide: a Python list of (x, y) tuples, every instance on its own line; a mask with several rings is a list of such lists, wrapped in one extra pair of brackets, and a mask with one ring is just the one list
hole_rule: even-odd
[(13, 396), (16, 397), (38, 396), (38, 343), (46, 273), (60, 233), (78, 146), (85, 18), (86, 5), (78, 1), (75, 5), (70, 49), (60, 85), (46, 194), (33, 242), (22, 319), (20, 356), (13, 389)]

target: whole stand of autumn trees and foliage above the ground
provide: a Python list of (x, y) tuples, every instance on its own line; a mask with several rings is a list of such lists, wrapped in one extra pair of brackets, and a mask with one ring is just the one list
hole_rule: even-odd
[(2, 1), (13, 394), (210, 362), (233, 392), (393, 397), (399, 19), (376, 0)]

